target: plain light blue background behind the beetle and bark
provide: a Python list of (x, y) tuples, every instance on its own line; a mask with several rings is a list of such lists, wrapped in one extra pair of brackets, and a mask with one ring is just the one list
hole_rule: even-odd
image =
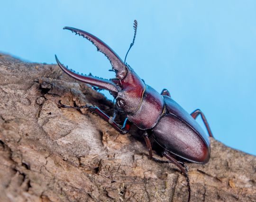
[(188, 112), (200, 108), (217, 140), (256, 155), (256, 1), (3, 1), (0, 52), (46, 63), (56, 53), (74, 70), (113, 78), (104, 55), (62, 27), (98, 36), (124, 59), (134, 19), (127, 61), (137, 74)]

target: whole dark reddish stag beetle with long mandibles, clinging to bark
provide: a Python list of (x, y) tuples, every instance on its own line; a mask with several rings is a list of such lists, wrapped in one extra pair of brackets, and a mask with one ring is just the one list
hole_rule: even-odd
[[(108, 80), (93, 77), (91, 74), (78, 74), (61, 64), (55, 55), (59, 67), (74, 79), (110, 91), (116, 100), (116, 105), (127, 114), (127, 118), (123, 125), (120, 126), (114, 121), (113, 117), (102, 112), (97, 106), (67, 106), (60, 102), (60, 107), (88, 108), (91, 112), (110, 123), (121, 134), (126, 134), (131, 124), (135, 124), (143, 131), (150, 159), (161, 163), (172, 162), (179, 167), (187, 180), (189, 190), (188, 201), (190, 201), (191, 188), (188, 169), (183, 162), (176, 160), (174, 157), (177, 156), (178, 158), (198, 164), (207, 163), (210, 159), (210, 141), (200, 125), (195, 121), (199, 114), (210, 137), (212, 137), (212, 132), (201, 110), (197, 109), (188, 114), (171, 98), (167, 89), (163, 89), (161, 94), (159, 94), (154, 88), (146, 85), (144, 80), (140, 79), (135, 71), (125, 62), (127, 54), (135, 41), (137, 21), (134, 20), (135, 33), (125, 61), (122, 61), (107, 44), (96, 36), (73, 27), (65, 26), (63, 29), (68, 29), (76, 35), (81, 35), (94, 44), (97, 50), (109, 59), (112, 70), (116, 73), (116, 78)], [(163, 149), (162, 154), (168, 159), (167, 161), (153, 158), (149, 136), (161, 146)]]

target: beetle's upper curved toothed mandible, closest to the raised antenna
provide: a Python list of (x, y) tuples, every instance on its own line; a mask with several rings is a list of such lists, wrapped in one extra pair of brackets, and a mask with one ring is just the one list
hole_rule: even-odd
[(107, 44), (105, 44), (98, 37), (85, 32), (81, 29), (76, 29), (73, 27), (65, 26), (63, 29), (68, 29), (75, 34), (81, 35), (84, 38), (88, 39), (93, 45), (97, 47), (97, 50), (103, 53), (110, 61), (112, 69), (115, 70), (116, 76), (119, 79), (123, 79), (126, 75), (126, 65), (122, 59), (115, 53)]

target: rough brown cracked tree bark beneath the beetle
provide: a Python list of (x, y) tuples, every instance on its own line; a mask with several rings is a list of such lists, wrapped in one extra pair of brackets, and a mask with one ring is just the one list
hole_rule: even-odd
[[(56, 65), (0, 55), (0, 202), (187, 201), (184, 176), (149, 160), (136, 128), (120, 135), (59, 100), (112, 113), (111, 101)], [(208, 164), (187, 163), (191, 201), (256, 201), (256, 157), (210, 141)]]

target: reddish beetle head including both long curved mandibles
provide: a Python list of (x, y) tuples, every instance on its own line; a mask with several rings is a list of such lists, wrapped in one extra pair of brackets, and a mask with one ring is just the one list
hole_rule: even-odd
[(116, 73), (116, 78), (108, 80), (93, 77), (92, 75), (78, 74), (61, 64), (55, 56), (60, 68), (74, 79), (109, 90), (113, 97), (116, 98), (116, 104), (120, 108), (127, 114), (135, 114), (141, 105), (142, 96), (146, 88), (142, 79), (140, 79), (134, 70), (128, 64), (125, 64), (107, 44), (101, 41), (101, 39), (88, 32), (73, 27), (64, 27), (64, 29), (68, 29), (77, 35), (81, 35), (94, 44), (97, 50), (109, 59), (112, 70)]

